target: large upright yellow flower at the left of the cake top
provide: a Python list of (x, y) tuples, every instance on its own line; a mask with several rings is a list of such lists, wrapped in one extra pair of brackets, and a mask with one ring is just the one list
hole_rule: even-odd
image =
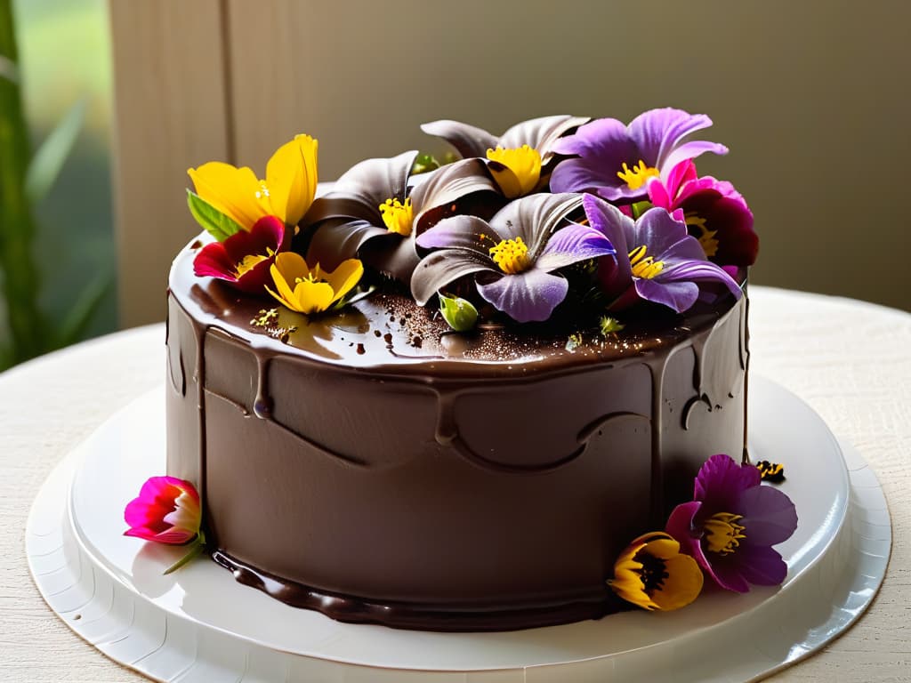
[(296, 225), (310, 209), (316, 195), (317, 141), (295, 136), (275, 151), (266, 165), (266, 179), (250, 168), (235, 168), (210, 161), (189, 168), (196, 193), (243, 229), (251, 229), (263, 216), (278, 216), (285, 225)]

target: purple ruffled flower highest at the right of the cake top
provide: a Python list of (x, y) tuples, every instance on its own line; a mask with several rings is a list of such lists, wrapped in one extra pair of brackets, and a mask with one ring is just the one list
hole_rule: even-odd
[(711, 126), (704, 114), (681, 109), (652, 109), (629, 126), (616, 118), (599, 118), (559, 139), (553, 149), (574, 155), (561, 161), (550, 178), (554, 192), (591, 192), (609, 201), (643, 199), (651, 178), (664, 177), (681, 161), (704, 152), (727, 154), (714, 142), (691, 140), (691, 133)]

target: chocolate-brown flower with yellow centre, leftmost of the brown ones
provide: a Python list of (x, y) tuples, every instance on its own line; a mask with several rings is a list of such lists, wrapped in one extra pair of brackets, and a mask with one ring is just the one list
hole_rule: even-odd
[(476, 192), (495, 186), (476, 160), (460, 161), (422, 178), (414, 189), (417, 152), (373, 158), (346, 171), (307, 214), (313, 226), (307, 258), (326, 268), (359, 258), (407, 283), (415, 270), (415, 232)]

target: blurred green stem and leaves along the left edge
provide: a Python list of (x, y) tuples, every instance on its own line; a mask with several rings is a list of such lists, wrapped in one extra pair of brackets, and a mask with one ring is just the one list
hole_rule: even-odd
[(51, 324), (38, 305), (40, 270), (35, 258), (36, 201), (53, 185), (81, 127), (79, 103), (32, 155), (18, 77), (11, 0), (0, 0), (0, 291), (9, 341), (0, 343), (0, 369), (77, 340), (112, 281), (100, 272), (77, 296), (66, 321)]

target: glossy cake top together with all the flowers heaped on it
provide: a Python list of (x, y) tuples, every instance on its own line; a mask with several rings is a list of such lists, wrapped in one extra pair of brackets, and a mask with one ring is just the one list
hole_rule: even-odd
[(322, 193), (307, 135), (264, 179), (209, 162), (188, 190), (206, 233), (171, 289), (253, 345), (354, 367), (640, 356), (729, 310), (758, 251), (742, 196), (696, 170), (728, 151), (691, 139), (709, 126), (673, 108), (501, 136), (439, 120), (422, 128), (455, 149), (444, 162), (366, 159)]

